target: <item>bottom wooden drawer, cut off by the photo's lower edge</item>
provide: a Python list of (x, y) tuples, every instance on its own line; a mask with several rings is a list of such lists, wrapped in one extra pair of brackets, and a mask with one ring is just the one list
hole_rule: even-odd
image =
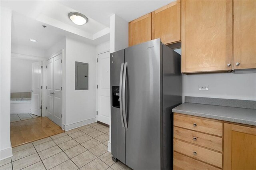
[(174, 170), (220, 170), (214, 166), (210, 166), (204, 162), (200, 162), (188, 156), (184, 156), (177, 152), (173, 153), (173, 169)]

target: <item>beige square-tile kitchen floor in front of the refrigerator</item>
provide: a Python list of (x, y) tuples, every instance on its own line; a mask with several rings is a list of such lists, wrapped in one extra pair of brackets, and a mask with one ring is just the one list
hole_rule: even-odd
[(92, 123), (12, 148), (0, 170), (130, 170), (108, 152), (109, 128)]

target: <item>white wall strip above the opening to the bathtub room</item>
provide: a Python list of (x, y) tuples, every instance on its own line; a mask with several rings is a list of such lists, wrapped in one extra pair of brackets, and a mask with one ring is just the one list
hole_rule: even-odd
[(46, 50), (34, 48), (34, 47), (28, 47), (24, 45), (16, 45), (12, 44), (12, 53), (16, 54), (24, 54), (24, 55), (31, 55), (36, 57), (46, 57)]

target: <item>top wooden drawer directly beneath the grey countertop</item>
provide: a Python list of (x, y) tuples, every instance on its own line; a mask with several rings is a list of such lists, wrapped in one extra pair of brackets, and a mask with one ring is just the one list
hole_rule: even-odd
[(222, 136), (222, 122), (174, 114), (174, 126)]

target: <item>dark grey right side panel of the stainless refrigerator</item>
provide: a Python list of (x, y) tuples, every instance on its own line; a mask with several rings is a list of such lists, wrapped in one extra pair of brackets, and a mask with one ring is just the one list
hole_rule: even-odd
[(182, 103), (181, 56), (166, 45), (163, 55), (163, 169), (173, 169), (173, 113)]

